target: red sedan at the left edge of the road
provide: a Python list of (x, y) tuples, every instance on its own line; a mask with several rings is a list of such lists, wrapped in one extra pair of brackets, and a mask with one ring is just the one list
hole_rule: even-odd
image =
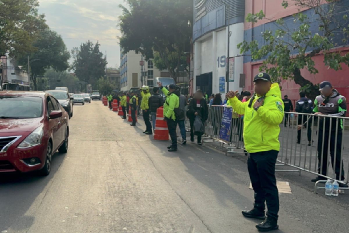
[(68, 113), (44, 92), (0, 92), (0, 172), (50, 174), (55, 151), (68, 151)]

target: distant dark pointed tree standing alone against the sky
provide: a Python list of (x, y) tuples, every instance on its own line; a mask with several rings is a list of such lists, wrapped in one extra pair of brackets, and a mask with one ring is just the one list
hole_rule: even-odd
[(96, 86), (99, 78), (104, 77), (105, 67), (107, 65), (106, 58), (99, 51), (100, 44), (93, 44), (92, 41), (82, 43), (80, 47), (72, 49), (73, 65), (76, 77), (80, 81), (90, 83), (92, 87)]

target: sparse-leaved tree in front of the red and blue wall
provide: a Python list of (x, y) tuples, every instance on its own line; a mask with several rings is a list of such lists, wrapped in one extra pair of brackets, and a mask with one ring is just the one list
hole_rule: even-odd
[[(317, 74), (313, 58), (324, 55), (324, 64), (338, 71), (342, 65), (349, 64), (349, 53), (343, 54), (334, 49), (348, 42), (348, 13), (345, 2), (337, 0), (292, 0), (299, 8), (299, 12), (293, 15), (293, 24), (290, 25), (283, 19), (272, 21), (276, 30), (265, 29), (262, 32), (263, 45), (252, 38), (252, 41), (244, 41), (238, 45), (241, 53), (250, 53), (253, 60), (263, 59), (260, 71), (270, 74), (273, 81), (281, 79), (294, 80), (296, 84), (305, 90), (308, 97), (314, 99), (319, 94), (317, 83), (312, 83), (303, 77), (304, 70), (311, 74)], [(282, 6), (286, 9), (288, 1), (283, 0)], [(307, 15), (302, 10), (311, 9), (314, 15)], [(339, 12), (341, 14), (339, 14)], [(265, 14), (261, 10), (257, 14), (248, 14), (247, 22), (257, 23), (264, 19)], [(317, 30), (311, 30), (311, 28)]]

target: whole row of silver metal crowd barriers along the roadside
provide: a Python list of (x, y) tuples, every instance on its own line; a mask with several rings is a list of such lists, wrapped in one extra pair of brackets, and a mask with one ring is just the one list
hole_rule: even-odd
[[(223, 106), (209, 106), (203, 142), (220, 143), (226, 150), (225, 155), (228, 153), (247, 155), (243, 141), (243, 116), (233, 111), (230, 140), (225, 141), (220, 138), (223, 109)], [(349, 121), (349, 117), (315, 117), (313, 114), (295, 112), (284, 114), (284, 120), (280, 124), (280, 153), (277, 167), (285, 166), (291, 169), (275, 170), (277, 172), (298, 172), (299, 175), (303, 171), (321, 176), (324, 180), (315, 183), (315, 192), (317, 189), (324, 188), (318, 185), (325, 183), (327, 179), (348, 184), (349, 144), (345, 143), (349, 141), (349, 131), (344, 130), (344, 125), (346, 121)], [(298, 130), (297, 126), (302, 122), (305, 127)], [(186, 126), (190, 129), (188, 120)], [(340, 187), (340, 189), (349, 188)]]

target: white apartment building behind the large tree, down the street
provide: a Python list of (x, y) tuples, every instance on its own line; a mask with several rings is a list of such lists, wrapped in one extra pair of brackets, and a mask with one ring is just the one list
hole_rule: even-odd
[[(131, 87), (141, 87), (142, 85), (154, 86), (154, 78), (162, 77), (160, 72), (151, 60), (145, 61), (141, 54), (136, 54), (135, 51), (123, 53), (120, 52), (120, 77), (121, 90), (127, 91)], [(143, 59), (142, 59), (143, 58)], [(142, 66), (140, 61), (144, 62), (143, 77), (141, 75)], [(141, 80), (142, 78), (142, 80)]]

